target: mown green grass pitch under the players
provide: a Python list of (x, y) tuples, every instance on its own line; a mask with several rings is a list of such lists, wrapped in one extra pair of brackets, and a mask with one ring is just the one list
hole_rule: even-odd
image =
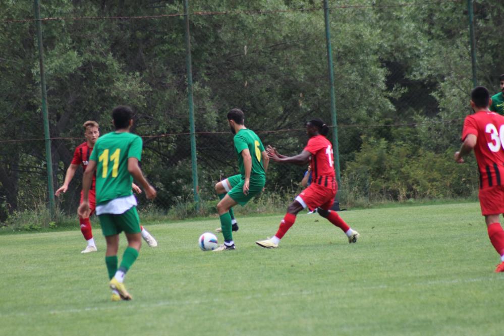
[(217, 219), (148, 225), (159, 246), (128, 273), (131, 302), (109, 302), (97, 224), (87, 255), (79, 231), (0, 236), (0, 334), (504, 333), (504, 274), (477, 203), (341, 215), (357, 244), (308, 214), (276, 250), (254, 242), (281, 215), (239, 218), (237, 250), (220, 253), (197, 245)]

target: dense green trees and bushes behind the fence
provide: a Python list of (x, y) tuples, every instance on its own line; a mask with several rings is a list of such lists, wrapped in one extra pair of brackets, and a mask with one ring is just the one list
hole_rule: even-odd
[[(330, 6), (369, 5), (348, 0)], [(355, 197), (402, 200), (469, 195), (475, 165), (450, 162), (460, 120), (470, 113), (471, 62), (465, 2), (331, 11), (341, 168)], [(191, 1), (191, 11), (320, 8), (313, 0)], [(380, 7), (381, 6), (381, 7)], [(149, 16), (182, 13), (182, 1), (42, 1), (43, 17)], [(497, 90), (504, 4), (475, 1), (480, 83)], [(0, 3), (0, 139), (40, 139), (39, 65), (32, 2)], [(221, 175), (236, 172), (225, 114), (246, 113), (253, 130), (300, 129), (310, 116), (330, 122), (323, 12), (193, 15), (191, 20), (199, 184), (212, 197)], [(134, 132), (189, 131), (182, 16), (134, 20), (44, 21), (43, 41), (55, 181), (61, 185), (81, 125), (97, 120), (110, 130), (117, 104), (137, 111)], [(396, 127), (442, 120), (452, 123)], [(375, 125), (380, 127), (358, 127)], [(208, 134), (205, 132), (225, 132)], [(306, 141), (303, 131), (261, 134), (285, 154)], [(143, 169), (159, 189), (155, 205), (190, 201), (187, 135), (144, 139)], [(45, 202), (43, 141), (0, 148), (0, 220)], [(378, 151), (377, 151), (378, 150)], [(272, 164), (270, 191), (292, 189), (302, 170)], [(346, 182), (345, 182), (346, 181)], [(462, 182), (464, 181), (464, 182)], [(56, 187), (56, 186), (55, 186)], [(79, 177), (60, 200), (78, 202)]]

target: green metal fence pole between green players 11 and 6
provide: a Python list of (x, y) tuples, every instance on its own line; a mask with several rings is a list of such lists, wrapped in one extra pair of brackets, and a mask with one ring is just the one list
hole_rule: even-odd
[(186, 39), (187, 98), (189, 100), (189, 128), (191, 132), (191, 168), (196, 211), (199, 211), (198, 164), (196, 161), (196, 135), (194, 134), (193, 75), (191, 66), (191, 35), (189, 33), (189, 2), (184, 0), (184, 23)]

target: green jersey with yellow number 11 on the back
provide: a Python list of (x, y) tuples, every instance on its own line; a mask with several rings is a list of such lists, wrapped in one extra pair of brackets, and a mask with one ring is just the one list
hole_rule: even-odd
[(140, 161), (142, 138), (129, 132), (111, 132), (99, 137), (89, 160), (96, 161), (96, 204), (133, 194), (128, 158)]

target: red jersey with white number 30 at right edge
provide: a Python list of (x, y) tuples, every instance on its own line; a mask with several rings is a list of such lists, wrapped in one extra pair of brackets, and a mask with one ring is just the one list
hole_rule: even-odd
[(478, 161), (480, 188), (504, 184), (504, 117), (490, 111), (467, 116), (462, 141), (469, 134), (477, 137), (474, 155)]

